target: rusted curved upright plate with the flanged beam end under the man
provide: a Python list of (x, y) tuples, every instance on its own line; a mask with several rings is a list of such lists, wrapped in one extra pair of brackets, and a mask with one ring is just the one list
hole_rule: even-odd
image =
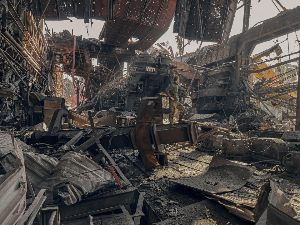
[[(197, 123), (186, 123), (182, 127), (158, 130), (156, 124), (163, 123), (162, 100), (159, 97), (144, 97), (138, 109), (136, 123), (136, 144), (144, 167), (151, 169), (159, 166), (155, 152), (162, 152), (166, 144), (190, 141), (195, 143), (199, 132)], [(154, 145), (154, 149), (152, 147)]]

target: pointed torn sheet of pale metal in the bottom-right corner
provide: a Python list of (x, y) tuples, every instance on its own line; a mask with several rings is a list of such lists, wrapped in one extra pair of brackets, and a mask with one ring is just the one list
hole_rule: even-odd
[(285, 194), (272, 181), (270, 186), (269, 204), (255, 225), (300, 224), (300, 214)]

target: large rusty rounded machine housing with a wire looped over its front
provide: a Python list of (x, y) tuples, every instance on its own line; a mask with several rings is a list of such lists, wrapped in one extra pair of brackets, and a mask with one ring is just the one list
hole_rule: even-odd
[(278, 138), (255, 138), (248, 146), (255, 154), (282, 162), (288, 143)]

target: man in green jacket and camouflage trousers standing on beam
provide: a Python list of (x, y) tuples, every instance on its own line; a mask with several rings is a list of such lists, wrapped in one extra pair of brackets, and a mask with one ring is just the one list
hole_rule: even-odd
[(169, 97), (169, 120), (170, 120), (170, 127), (171, 128), (176, 128), (173, 125), (173, 116), (175, 113), (175, 108), (178, 109), (179, 111), (179, 121), (178, 123), (184, 123), (184, 121), (182, 120), (184, 113), (185, 113), (185, 109), (183, 107), (183, 105), (179, 102), (179, 98), (178, 98), (178, 83), (179, 83), (179, 77), (175, 76), (174, 77), (174, 82), (166, 89), (166, 94)]

